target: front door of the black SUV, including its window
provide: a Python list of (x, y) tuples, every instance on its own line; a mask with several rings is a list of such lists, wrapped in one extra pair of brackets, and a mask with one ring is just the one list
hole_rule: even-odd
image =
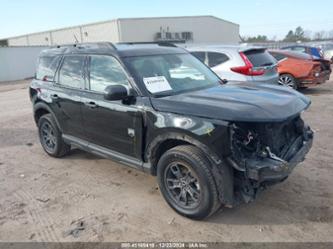
[(82, 116), (88, 141), (140, 159), (140, 109), (135, 103), (107, 101), (103, 96), (109, 85), (121, 84), (130, 87), (125, 71), (113, 56), (92, 55), (88, 61), (89, 80), (82, 95)]

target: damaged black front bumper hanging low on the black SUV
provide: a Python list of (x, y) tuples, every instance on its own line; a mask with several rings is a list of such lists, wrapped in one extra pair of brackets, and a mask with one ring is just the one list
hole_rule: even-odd
[[(309, 129), (306, 140), (302, 139), (302, 145), (296, 145), (289, 150), (292, 153), (288, 161), (280, 158), (266, 157), (261, 159), (248, 159), (246, 162), (246, 175), (249, 179), (259, 183), (273, 184), (281, 182), (288, 177), (295, 166), (304, 161), (306, 154), (310, 151), (313, 142), (313, 132)], [(297, 152), (295, 152), (298, 148)]]

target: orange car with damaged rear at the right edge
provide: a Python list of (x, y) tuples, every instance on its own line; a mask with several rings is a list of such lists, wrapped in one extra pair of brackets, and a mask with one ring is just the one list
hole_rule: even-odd
[(331, 67), (328, 60), (287, 50), (269, 52), (279, 62), (280, 84), (297, 89), (322, 84), (330, 78)]

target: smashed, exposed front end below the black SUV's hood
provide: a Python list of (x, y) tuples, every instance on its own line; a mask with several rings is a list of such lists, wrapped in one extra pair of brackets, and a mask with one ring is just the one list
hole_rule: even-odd
[[(312, 131), (300, 117), (275, 123), (233, 123), (231, 125), (233, 166), (257, 181), (280, 179), (290, 162), (311, 139)], [(300, 162), (304, 159), (297, 161)]]

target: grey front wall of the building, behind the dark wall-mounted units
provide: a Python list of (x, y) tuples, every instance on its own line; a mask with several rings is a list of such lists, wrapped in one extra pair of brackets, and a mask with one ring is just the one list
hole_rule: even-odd
[(196, 43), (238, 43), (239, 25), (213, 16), (119, 19), (120, 40), (153, 41), (156, 34), (191, 32)]

